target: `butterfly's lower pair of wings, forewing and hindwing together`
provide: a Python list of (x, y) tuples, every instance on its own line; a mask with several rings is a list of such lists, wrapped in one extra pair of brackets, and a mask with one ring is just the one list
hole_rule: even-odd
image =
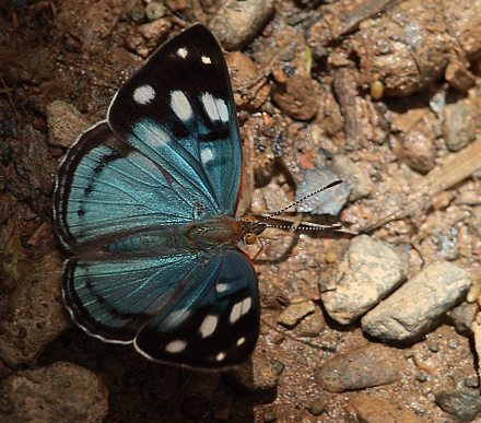
[[(121, 282), (119, 282), (121, 281)], [(91, 334), (129, 343), (146, 357), (219, 369), (256, 345), (256, 274), (239, 250), (68, 261), (63, 294)]]

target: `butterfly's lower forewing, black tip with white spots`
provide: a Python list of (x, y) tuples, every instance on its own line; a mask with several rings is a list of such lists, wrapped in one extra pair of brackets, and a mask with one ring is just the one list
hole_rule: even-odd
[[(190, 307), (176, 299), (139, 331), (139, 352), (160, 362), (208, 369), (246, 360), (259, 334), (257, 278), (250, 260), (239, 250), (218, 255), (201, 279), (203, 287), (190, 284), (186, 290)], [(195, 295), (189, 293), (192, 289)]]

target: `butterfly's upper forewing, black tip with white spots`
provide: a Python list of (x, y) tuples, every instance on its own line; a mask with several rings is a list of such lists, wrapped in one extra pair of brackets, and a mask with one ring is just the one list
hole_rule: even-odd
[[(108, 121), (169, 175), (233, 216), (242, 177), (238, 124), (225, 59), (191, 26), (157, 50), (117, 93)], [(197, 198), (197, 197), (196, 197)]]

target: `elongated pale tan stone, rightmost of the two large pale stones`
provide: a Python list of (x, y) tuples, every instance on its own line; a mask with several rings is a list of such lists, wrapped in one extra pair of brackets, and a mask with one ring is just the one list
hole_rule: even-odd
[(382, 341), (413, 341), (465, 297), (471, 275), (448, 261), (427, 266), (367, 313), (363, 330)]

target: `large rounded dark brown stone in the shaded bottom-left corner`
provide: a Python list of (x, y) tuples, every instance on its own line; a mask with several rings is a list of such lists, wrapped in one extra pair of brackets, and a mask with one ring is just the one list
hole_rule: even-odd
[(102, 378), (72, 363), (12, 374), (0, 385), (0, 398), (2, 423), (101, 423), (108, 412), (108, 391)]

